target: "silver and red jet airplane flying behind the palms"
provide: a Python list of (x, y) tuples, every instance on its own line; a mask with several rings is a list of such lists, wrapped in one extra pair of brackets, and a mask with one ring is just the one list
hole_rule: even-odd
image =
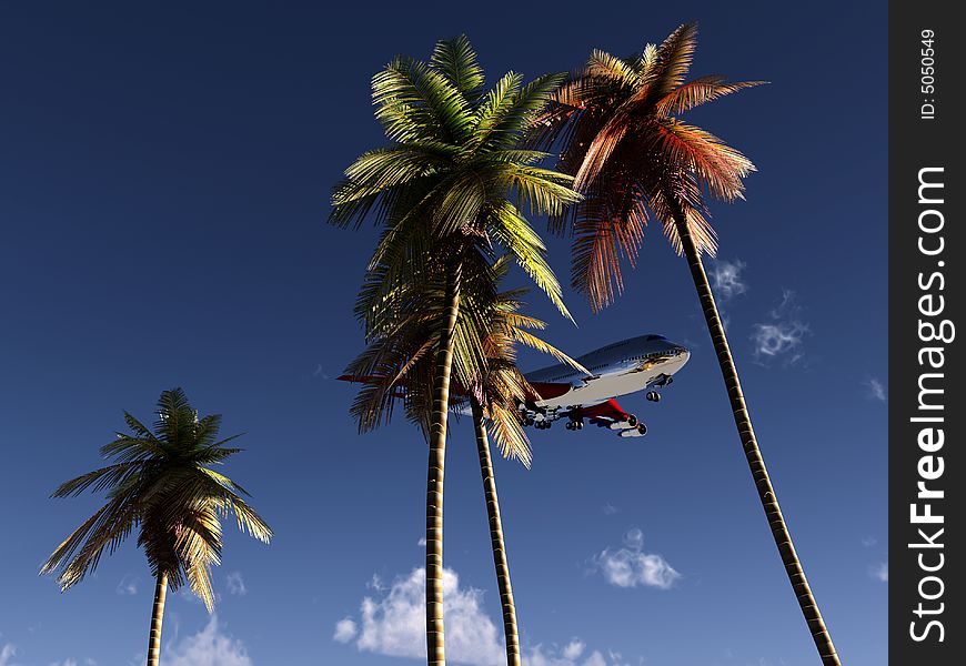
[[(622, 395), (646, 391), (651, 402), (661, 400), (660, 389), (668, 386), (691, 352), (663, 335), (630, 337), (584, 354), (576, 361), (592, 374), (557, 363), (524, 376), (534, 395), (517, 405), (525, 426), (551, 427), (566, 420), (566, 430), (583, 430), (584, 421), (616, 431), (621, 437), (643, 437), (647, 426), (617, 404)], [(366, 377), (342, 375), (348, 382)], [(454, 387), (459, 393), (459, 387)]]

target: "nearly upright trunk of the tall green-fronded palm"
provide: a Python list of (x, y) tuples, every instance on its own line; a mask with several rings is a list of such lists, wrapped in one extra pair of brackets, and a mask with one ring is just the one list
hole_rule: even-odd
[(457, 262), (446, 279), (446, 315), (436, 352), (433, 415), (430, 422), (430, 463), (426, 475), (426, 658), (431, 666), (445, 666), (443, 636), (443, 472), (446, 460), (446, 416), (450, 411), (450, 371), (453, 340), (460, 313)]

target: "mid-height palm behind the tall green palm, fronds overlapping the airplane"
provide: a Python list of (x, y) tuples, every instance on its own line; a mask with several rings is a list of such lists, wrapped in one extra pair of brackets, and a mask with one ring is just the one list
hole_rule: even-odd
[[(547, 344), (530, 331), (545, 327), (541, 320), (521, 314), (520, 300), (526, 290), (492, 293), (487, 290), (506, 276), (509, 262), (503, 256), (482, 276), (464, 280), (464, 304), (456, 323), (456, 337), (482, 333), (482, 357), (474, 355), (474, 345), (456, 344), (453, 366), (457, 377), (451, 407), (469, 403), (480, 457), (483, 492), (490, 524), (490, 539), (496, 583), (500, 592), (506, 644), (506, 663), (520, 666), (520, 637), (516, 608), (510, 582), (510, 567), (500, 516), (500, 503), (493, 462), (490, 455), (489, 431), (504, 457), (516, 458), (530, 467), (531, 450), (514, 405), (533, 396), (533, 390), (516, 366), (516, 345), (524, 344), (585, 371), (570, 356)], [(409, 285), (393, 293), (396, 314), (406, 312), (400, 325), (373, 340), (346, 369), (348, 377), (363, 382), (353, 404), (353, 415), (362, 432), (368, 432), (392, 417), (393, 404), (403, 398), (411, 421), (424, 432), (432, 417), (432, 377), (434, 360), (430, 350), (434, 340), (433, 323), (443, 314), (443, 285), (426, 289), (422, 299), (407, 294)], [(586, 371), (585, 371), (586, 372)]]

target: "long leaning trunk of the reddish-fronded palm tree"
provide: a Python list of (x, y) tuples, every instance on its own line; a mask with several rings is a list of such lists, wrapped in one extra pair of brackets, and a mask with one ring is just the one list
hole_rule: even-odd
[(838, 660), (835, 645), (832, 643), (832, 636), (829, 636), (828, 629), (825, 628), (825, 622), (822, 619), (818, 604), (812, 595), (808, 581), (805, 579), (805, 572), (798, 562), (798, 555), (795, 553), (795, 546), (792, 543), (792, 535), (788, 534), (785, 518), (782, 516), (782, 509), (778, 507), (778, 500), (775, 496), (775, 488), (772, 487), (768, 471), (765, 468), (765, 461), (762, 458), (762, 452), (758, 450), (755, 431), (752, 428), (752, 420), (748, 416), (748, 408), (742, 393), (742, 384), (738, 381), (738, 373), (735, 370), (731, 349), (728, 349), (727, 337), (725, 337), (717, 305), (715, 305), (714, 295), (711, 292), (707, 274), (704, 272), (704, 266), (701, 263), (701, 254), (694, 245), (694, 240), (691, 238), (687, 224), (682, 222), (681, 215), (677, 215), (676, 220), (684, 255), (691, 269), (694, 286), (697, 289), (697, 297), (701, 301), (701, 309), (704, 311), (704, 320), (707, 323), (707, 330), (711, 333), (714, 351), (717, 354), (718, 365), (721, 365), (722, 376), (728, 392), (735, 425), (738, 428), (738, 436), (745, 451), (745, 457), (748, 461), (748, 467), (752, 471), (752, 478), (758, 491), (758, 498), (762, 501), (762, 507), (765, 509), (765, 515), (768, 518), (772, 536), (775, 538), (775, 545), (778, 547), (782, 563), (785, 565), (785, 572), (788, 574), (788, 581), (792, 583), (792, 588), (798, 598), (802, 614), (805, 616), (805, 622), (808, 623), (808, 629), (812, 632), (812, 638), (818, 648), (822, 663), (825, 666), (841, 666), (842, 663)]

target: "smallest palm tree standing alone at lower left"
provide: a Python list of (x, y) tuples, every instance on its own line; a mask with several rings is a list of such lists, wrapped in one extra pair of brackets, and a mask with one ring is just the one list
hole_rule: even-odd
[(240, 435), (218, 440), (220, 414), (199, 418), (184, 392), (173, 389), (158, 400), (153, 432), (128, 412), (124, 421), (130, 432), (101, 447), (115, 462), (53, 492), (68, 497), (107, 491), (108, 503), (57, 547), (40, 573), (60, 569), (58, 581), (67, 591), (137, 529), (155, 579), (148, 666), (157, 666), (168, 588), (187, 582), (208, 612), (213, 609), (211, 567), (221, 563), (221, 518), (233, 513), (240, 529), (264, 543), (272, 531), (241, 497), (248, 492), (211, 468), (242, 451), (225, 446)]

